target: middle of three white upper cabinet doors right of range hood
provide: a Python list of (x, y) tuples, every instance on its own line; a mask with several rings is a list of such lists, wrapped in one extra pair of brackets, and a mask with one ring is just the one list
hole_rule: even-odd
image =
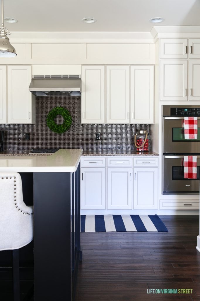
[(129, 123), (129, 66), (106, 67), (106, 123)]

